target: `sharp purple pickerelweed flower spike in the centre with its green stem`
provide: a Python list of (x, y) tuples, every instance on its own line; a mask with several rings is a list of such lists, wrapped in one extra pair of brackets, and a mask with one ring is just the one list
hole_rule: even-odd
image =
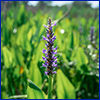
[(53, 26), (56, 25), (56, 22), (52, 23), (51, 18), (48, 20), (48, 25), (44, 25), (46, 28), (46, 37), (43, 36), (43, 40), (46, 40), (45, 43), (46, 49), (43, 49), (43, 60), (44, 63), (42, 64), (43, 67), (46, 67), (45, 74), (49, 76), (49, 85), (48, 85), (48, 99), (52, 99), (51, 91), (52, 91), (52, 80), (53, 74), (56, 73), (55, 67), (57, 67), (57, 47), (54, 47), (54, 40), (56, 36), (54, 36)]

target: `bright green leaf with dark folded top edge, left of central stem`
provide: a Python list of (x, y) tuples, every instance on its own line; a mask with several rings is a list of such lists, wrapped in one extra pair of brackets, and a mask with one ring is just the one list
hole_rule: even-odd
[(29, 87), (27, 89), (28, 99), (44, 99), (41, 89), (34, 84), (31, 80), (28, 80)]

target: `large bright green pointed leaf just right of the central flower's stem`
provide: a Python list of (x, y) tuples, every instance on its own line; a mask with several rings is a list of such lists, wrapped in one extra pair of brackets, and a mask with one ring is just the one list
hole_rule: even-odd
[(60, 69), (57, 70), (57, 97), (58, 99), (76, 98), (74, 86)]

